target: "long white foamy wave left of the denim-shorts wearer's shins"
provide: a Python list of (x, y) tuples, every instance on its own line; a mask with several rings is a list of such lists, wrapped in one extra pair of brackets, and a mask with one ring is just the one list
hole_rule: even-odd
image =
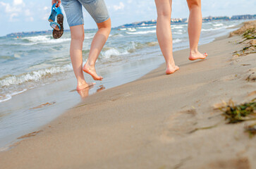
[(71, 64), (68, 64), (62, 67), (46, 68), (42, 70), (32, 71), (30, 73), (23, 73), (21, 75), (7, 75), (5, 77), (1, 77), (0, 87), (23, 84), (29, 81), (38, 81), (41, 80), (43, 77), (54, 75), (56, 73), (63, 73), (70, 70), (73, 70), (73, 68)]

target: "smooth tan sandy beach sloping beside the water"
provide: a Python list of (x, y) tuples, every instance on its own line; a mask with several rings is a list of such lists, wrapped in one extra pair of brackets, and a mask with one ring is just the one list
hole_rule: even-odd
[(88, 96), (0, 152), (0, 168), (256, 168), (256, 137), (244, 132), (255, 121), (226, 124), (217, 108), (256, 97), (255, 42), (242, 41), (227, 35), (200, 46), (205, 61), (176, 51), (173, 75), (161, 65)]

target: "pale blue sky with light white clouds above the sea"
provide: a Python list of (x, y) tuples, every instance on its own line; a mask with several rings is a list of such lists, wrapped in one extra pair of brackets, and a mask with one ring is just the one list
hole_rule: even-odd
[[(105, 0), (112, 27), (142, 20), (157, 19), (154, 0)], [(256, 14), (255, 0), (202, 0), (203, 17), (212, 15)], [(51, 30), (51, 0), (0, 0), (0, 36), (12, 32)], [(96, 28), (94, 20), (83, 11), (85, 29)], [(172, 18), (188, 18), (185, 0), (173, 0)], [(64, 29), (69, 29), (66, 20)]]

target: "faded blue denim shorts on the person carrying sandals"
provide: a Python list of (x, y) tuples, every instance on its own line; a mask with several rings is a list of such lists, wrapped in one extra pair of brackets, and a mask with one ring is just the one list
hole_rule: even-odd
[(109, 12), (104, 0), (62, 0), (61, 4), (70, 27), (84, 24), (82, 6), (96, 23), (103, 23), (109, 19)]

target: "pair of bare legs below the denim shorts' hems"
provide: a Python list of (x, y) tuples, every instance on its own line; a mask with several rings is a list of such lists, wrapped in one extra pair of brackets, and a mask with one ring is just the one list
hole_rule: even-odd
[(92, 84), (85, 82), (83, 71), (92, 75), (94, 80), (102, 80), (102, 77), (97, 75), (95, 70), (95, 63), (99, 56), (100, 51), (106, 40), (109, 37), (111, 31), (111, 20), (110, 18), (103, 23), (97, 23), (98, 31), (95, 34), (95, 37), (92, 39), (92, 44), (90, 47), (89, 57), (85, 66), (83, 67), (83, 41), (85, 38), (85, 30), (83, 25), (71, 26), (71, 62), (73, 65), (73, 70), (75, 77), (78, 81), (77, 90), (85, 89)]

